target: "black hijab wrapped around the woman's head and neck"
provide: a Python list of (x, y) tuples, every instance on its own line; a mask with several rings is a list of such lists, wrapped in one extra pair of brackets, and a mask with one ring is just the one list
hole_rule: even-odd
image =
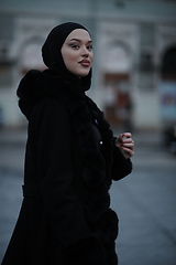
[(91, 70), (87, 76), (81, 78), (77, 77), (65, 66), (61, 52), (66, 38), (76, 29), (82, 29), (89, 33), (85, 26), (74, 22), (66, 22), (55, 26), (50, 32), (42, 47), (42, 56), (44, 64), (50, 68), (50, 71), (55, 73), (55, 75), (72, 83), (72, 85), (79, 85), (81, 91), (88, 91), (91, 84)]

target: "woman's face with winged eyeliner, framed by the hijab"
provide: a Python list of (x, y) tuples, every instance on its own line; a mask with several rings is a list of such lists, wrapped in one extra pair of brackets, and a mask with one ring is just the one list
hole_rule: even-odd
[(78, 77), (88, 75), (94, 60), (89, 33), (82, 29), (72, 31), (62, 46), (62, 55), (69, 72)]

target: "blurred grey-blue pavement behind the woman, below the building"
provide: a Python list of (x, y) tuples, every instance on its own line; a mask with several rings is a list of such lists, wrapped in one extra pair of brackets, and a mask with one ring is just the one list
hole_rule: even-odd
[[(176, 156), (158, 131), (134, 131), (133, 139), (133, 172), (110, 191), (119, 264), (176, 265)], [(26, 128), (0, 130), (0, 262), (22, 202), (25, 141)]]

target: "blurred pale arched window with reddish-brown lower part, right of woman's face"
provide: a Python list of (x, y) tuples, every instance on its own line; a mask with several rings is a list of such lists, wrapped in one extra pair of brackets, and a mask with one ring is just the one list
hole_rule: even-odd
[(131, 130), (130, 74), (131, 51), (121, 42), (110, 42), (103, 57), (103, 108), (106, 118), (113, 126)]

